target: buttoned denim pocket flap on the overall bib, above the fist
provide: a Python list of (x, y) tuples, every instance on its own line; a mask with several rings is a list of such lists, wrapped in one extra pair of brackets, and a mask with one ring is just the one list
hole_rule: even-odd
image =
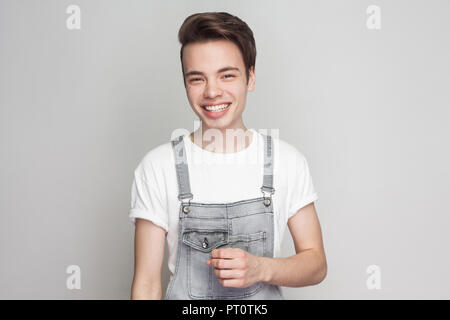
[(211, 252), (228, 243), (228, 231), (189, 230), (184, 232), (183, 242), (196, 250)]

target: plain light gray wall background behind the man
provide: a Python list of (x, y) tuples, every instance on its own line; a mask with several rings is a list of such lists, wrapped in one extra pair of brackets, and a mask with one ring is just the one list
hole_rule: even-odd
[[(194, 129), (177, 32), (203, 11), (252, 28), (244, 122), (299, 148), (319, 194), (328, 275), (286, 298), (449, 299), (450, 3), (436, 0), (2, 0), (0, 298), (129, 298), (133, 171)], [(166, 260), (163, 276), (165, 292)]]

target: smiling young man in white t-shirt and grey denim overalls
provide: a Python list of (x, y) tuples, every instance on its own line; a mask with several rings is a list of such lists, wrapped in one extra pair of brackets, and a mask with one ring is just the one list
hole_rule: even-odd
[[(166, 238), (166, 299), (282, 299), (280, 286), (320, 283), (327, 263), (307, 161), (242, 119), (255, 85), (252, 31), (213, 12), (189, 16), (178, 36), (187, 97), (201, 126), (152, 149), (134, 172), (131, 298), (162, 298)], [(255, 156), (263, 160), (249, 161)], [(296, 254), (280, 258), (286, 226)]]

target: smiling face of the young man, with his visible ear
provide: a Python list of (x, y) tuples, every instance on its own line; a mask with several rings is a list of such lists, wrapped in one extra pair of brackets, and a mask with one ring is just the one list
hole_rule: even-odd
[[(183, 49), (186, 93), (203, 123), (203, 129), (242, 128), (247, 91), (253, 91), (255, 75), (250, 70), (247, 84), (239, 48), (228, 40), (190, 43)], [(206, 106), (220, 106), (207, 110)], [(222, 110), (224, 105), (228, 105)]]

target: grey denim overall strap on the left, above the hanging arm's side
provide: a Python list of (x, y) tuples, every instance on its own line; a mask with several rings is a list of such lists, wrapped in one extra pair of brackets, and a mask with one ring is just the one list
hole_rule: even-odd
[(186, 149), (183, 143), (183, 135), (172, 140), (172, 149), (175, 156), (175, 168), (178, 181), (178, 200), (189, 199), (194, 197), (191, 193), (191, 185), (189, 183), (189, 170), (187, 165)]

